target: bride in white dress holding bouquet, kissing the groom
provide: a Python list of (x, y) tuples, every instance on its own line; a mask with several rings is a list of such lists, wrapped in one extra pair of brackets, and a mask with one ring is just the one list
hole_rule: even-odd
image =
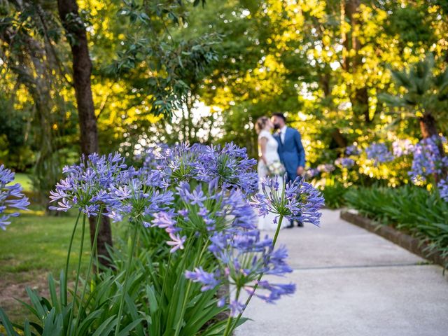
[[(258, 188), (261, 190), (261, 181), (265, 176), (273, 176), (279, 179), (280, 186), (283, 185), (284, 168), (281, 165), (279, 153), (277, 148), (279, 144), (276, 139), (272, 137), (271, 120), (267, 117), (260, 117), (255, 123), (255, 131), (258, 133)], [(269, 213), (265, 218), (260, 217), (258, 220), (258, 229), (260, 230), (276, 230), (277, 225), (275, 220), (276, 214)], [(286, 226), (282, 225), (282, 228)]]

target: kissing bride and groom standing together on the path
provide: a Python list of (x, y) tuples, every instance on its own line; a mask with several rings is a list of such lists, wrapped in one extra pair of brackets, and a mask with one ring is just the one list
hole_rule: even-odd
[[(300, 132), (286, 126), (283, 113), (274, 113), (271, 118), (263, 116), (255, 123), (258, 133), (258, 181), (265, 176), (276, 177), (283, 184), (286, 172), (286, 183), (302, 176), (305, 166), (305, 152)], [(258, 188), (261, 190), (261, 183)], [(258, 221), (260, 230), (276, 230), (276, 214), (269, 213)], [(286, 223), (282, 228), (293, 228), (293, 223)], [(303, 226), (298, 223), (298, 226)]]

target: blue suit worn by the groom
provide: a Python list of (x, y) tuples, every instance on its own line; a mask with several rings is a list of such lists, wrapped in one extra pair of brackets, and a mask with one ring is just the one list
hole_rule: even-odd
[(300, 133), (294, 128), (286, 127), (283, 144), (281, 143), (279, 133), (274, 134), (274, 138), (279, 143), (280, 160), (288, 174), (286, 182), (294, 180), (297, 177), (297, 168), (305, 167), (305, 151), (302, 146)]

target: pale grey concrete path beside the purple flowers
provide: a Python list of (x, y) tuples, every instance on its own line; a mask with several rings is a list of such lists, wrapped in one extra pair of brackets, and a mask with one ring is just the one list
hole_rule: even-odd
[[(323, 210), (321, 228), (285, 229), (295, 295), (253, 298), (237, 336), (447, 336), (442, 267)], [(279, 278), (277, 278), (279, 279)]]

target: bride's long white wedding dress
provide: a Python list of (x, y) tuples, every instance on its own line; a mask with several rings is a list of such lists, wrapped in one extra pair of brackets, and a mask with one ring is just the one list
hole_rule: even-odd
[[(276, 139), (272, 137), (272, 134), (268, 132), (267, 130), (262, 130), (260, 134), (258, 134), (258, 140), (266, 138), (267, 144), (266, 144), (266, 153), (265, 158), (267, 161), (267, 165), (271, 165), (272, 162), (280, 162), (279, 152), (277, 151), (277, 148), (279, 147), (279, 144), (277, 143)], [(261, 151), (259, 149), (259, 151)], [(259, 153), (261, 155), (261, 153)], [(259, 156), (260, 156), (259, 155)], [(267, 165), (265, 165), (265, 162), (263, 162), (261, 159), (258, 160), (258, 188), (260, 190), (260, 193), (262, 193), (261, 188), (261, 181), (269, 174)], [(283, 188), (283, 176), (277, 176), (277, 179), (279, 179), (280, 183), (280, 189), (279, 193), (281, 193), (281, 188)], [(265, 216), (265, 218), (260, 217), (258, 218), (258, 229), (259, 230), (276, 230), (277, 225), (274, 223), (275, 217), (278, 216), (276, 214), (269, 213)], [(287, 223), (286, 220), (283, 221), (281, 228), (286, 227)]]

